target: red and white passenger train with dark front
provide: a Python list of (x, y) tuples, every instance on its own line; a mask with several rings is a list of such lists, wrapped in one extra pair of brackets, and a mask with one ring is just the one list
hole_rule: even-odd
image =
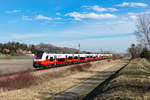
[(55, 67), (60, 65), (111, 59), (112, 54), (49, 54), (37, 52), (33, 59), (33, 67)]

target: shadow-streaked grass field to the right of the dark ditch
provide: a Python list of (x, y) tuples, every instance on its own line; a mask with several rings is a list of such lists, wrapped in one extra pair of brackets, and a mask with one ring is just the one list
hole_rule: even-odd
[(150, 100), (150, 62), (132, 60), (94, 100)]

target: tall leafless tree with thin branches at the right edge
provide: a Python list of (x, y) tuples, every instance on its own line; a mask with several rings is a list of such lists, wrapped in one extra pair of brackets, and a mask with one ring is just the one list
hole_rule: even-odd
[(142, 45), (150, 46), (150, 16), (139, 16), (136, 27), (136, 37)]

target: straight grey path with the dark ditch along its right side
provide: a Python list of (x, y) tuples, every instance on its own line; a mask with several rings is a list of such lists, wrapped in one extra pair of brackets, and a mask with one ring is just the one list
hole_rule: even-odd
[(109, 81), (112, 80), (128, 63), (129, 60), (124, 60), (120, 64), (100, 71), (81, 84), (58, 94), (49, 100), (91, 100), (91, 98), (96, 95), (97, 89), (100, 89), (103, 85), (108, 84)]

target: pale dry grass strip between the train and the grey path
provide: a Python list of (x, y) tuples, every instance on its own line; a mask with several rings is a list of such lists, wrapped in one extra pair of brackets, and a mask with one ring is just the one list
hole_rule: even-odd
[(2, 100), (45, 100), (118, 63), (120, 60), (91, 62), (91, 65), (83, 64), (83, 71), (68, 70), (75, 67), (74, 65), (36, 71), (33, 74), (40, 79), (38, 85), (12, 91), (4, 91), (1, 88), (0, 98)]

